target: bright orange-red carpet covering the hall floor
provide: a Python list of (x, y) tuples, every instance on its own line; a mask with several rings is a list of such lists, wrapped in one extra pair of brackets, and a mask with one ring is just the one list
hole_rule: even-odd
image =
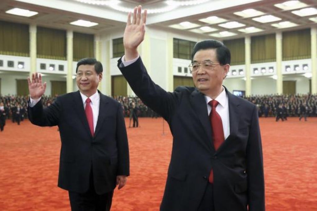
[[(140, 118), (127, 128), (130, 173), (115, 190), (112, 211), (159, 210), (171, 153), (163, 120)], [(126, 119), (126, 125), (128, 125)], [(260, 118), (266, 210), (317, 210), (317, 118), (275, 122)], [(164, 133), (164, 134), (163, 134)], [(18, 126), (7, 121), (0, 133), (0, 210), (70, 210), (68, 192), (57, 187), (60, 137), (57, 127)]]

